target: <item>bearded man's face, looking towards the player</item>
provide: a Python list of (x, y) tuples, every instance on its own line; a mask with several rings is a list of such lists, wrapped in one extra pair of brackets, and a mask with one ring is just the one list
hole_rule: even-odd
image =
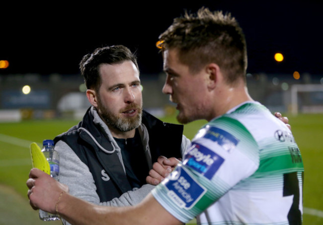
[(139, 71), (132, 61), (103, 64), (97, 110), (109, 127), (126, 132), (137, 128), (142, 117)]

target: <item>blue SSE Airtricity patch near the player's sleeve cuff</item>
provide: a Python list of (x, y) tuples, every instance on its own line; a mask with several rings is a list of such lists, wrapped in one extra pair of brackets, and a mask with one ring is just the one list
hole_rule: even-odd
[(192, 208), (206, 192), (182, 165), (178, 165), (162, 183), (168, 189), (168, 197), (180, 208)]

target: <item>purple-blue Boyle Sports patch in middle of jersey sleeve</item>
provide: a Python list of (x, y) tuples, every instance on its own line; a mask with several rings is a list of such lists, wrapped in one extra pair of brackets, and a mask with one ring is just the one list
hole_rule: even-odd
[(203, 145), (193, 142), (183, 164), (211, 179), (223, 162), (224, 159), (221, 156)]

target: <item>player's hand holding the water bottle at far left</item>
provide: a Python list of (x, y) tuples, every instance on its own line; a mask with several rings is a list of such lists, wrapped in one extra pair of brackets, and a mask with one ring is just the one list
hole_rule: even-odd
[(68, 186), (37, 168), (30, 170), (26, 184), (30, 206), (53, 214), (56, 214), (55, 206), (61, 193), (69, 191)]

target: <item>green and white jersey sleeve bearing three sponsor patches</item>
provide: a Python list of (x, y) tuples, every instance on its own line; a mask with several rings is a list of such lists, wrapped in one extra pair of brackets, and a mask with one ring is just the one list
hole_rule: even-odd
[(175, 218), (187, 223), (259, 166), (258, 146), (238, 121), (222, 117), (199, 130), (173, 172), (152, 194)]

